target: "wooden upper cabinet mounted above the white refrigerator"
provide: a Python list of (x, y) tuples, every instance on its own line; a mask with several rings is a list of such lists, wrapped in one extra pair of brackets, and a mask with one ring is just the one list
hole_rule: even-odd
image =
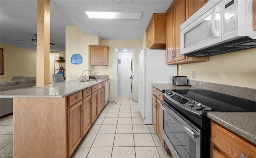
[(166, 15), (154, 13), (146, 28), (146, 48), (166, 49)]

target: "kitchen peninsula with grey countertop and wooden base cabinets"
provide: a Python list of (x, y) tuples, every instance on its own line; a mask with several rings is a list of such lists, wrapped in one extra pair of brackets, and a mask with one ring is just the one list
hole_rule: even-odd
[(1, 92), (0, 98), (13, 98), (14, 157), (69, 158), (104, 108), (106, 80)]

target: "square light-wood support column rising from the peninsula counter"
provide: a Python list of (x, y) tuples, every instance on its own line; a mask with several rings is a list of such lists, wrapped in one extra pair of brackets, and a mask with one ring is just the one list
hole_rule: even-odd
[(36, 86), (49, 86), (50, 0), (37, 1)]

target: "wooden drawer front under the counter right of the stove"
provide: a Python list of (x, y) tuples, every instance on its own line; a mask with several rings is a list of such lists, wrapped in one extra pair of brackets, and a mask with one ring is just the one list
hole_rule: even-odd
[(211, 122), (211, 134), (211, 142), (220, 153), (232, 158), (239, 158), (239, 154), (244, 154), (249, 158), (253, 158), (256, 155), (256, 146), (214, 122)]

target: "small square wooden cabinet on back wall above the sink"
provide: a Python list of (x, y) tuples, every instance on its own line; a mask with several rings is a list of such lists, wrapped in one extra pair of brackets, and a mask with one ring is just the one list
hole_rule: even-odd
[(90, 64), (108, 65), (108, 46), (90, 46)]

